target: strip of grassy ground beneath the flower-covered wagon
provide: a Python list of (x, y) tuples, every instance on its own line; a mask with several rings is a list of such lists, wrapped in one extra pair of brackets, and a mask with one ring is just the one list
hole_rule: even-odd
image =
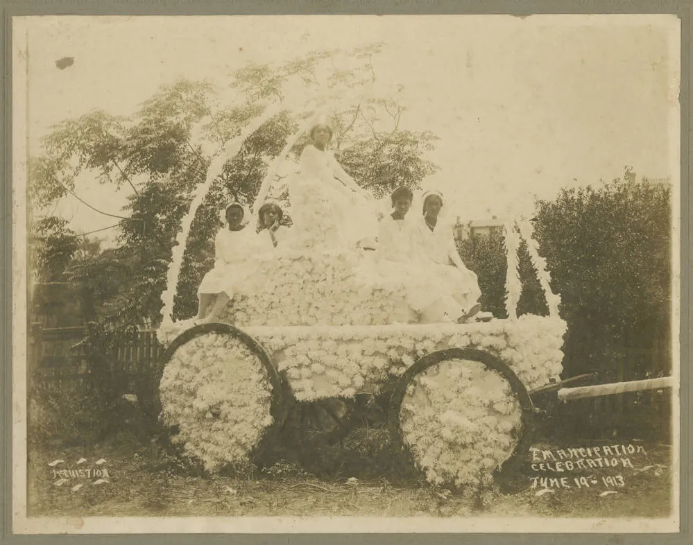
[[(540, 444), (565, 449), (570, 444)], [(474, 497), (433, 487), (402, 458), (395, 456), (382, 429), (357, 429), (336, 447), (311, 451), (277, 449), (275, 461), (264, 469), (204, 475), (172, 458), (157, 442), (142, 442), (129, 433), (99, 444), (31, 447), (28, 460), (30, 516), (326, 516), (370, 517), (665, 517), (671, 502), (671, 448), (644, 444), (647, 454), (633, 457), (635, 469), (621, 469), (625, 486), (600, 496), (604, 487), (559, 489), (537, 495), (530, 487), (531, 461), (511, 485)], [(311, 447), (312, 448), (312, 447)], [(109, 482), (94, 485), (71, 479), (57, 486), (49, 467), (82, 467), (104, 458)], [(289, 460), (289, 461), (287, 461)], [(648, 467), (649, 466), (649, 467)], [(56, 468), (57, 468), (56, 467)], [(648, 469), (642, 469), (648, 467)], [(595, 471), (599, 478), (615, 472)], [(567, 474), (572, 478), (574, 474)], [(545, 475), (542, 475), (545, 476)], [(93, 479), (92, 479), (93, 481)], [(73, 491), (78, 483), (83, 486)]]

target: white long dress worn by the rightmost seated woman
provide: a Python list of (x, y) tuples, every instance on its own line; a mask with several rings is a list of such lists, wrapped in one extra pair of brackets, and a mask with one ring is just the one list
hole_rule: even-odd
[(477, 275), (465, 267), (455, 246), (452, 226), (438, 223), (430, 230), (425, 217), (418, 221), (418, 244), (422, 252), (435, 263), (432, 275), (440, 278), (450, 289), (454, 299), (468, 311), (481, 297)]

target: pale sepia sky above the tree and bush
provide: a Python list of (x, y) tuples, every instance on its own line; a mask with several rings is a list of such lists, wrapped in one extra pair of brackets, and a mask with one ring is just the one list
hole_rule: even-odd
[[(531, 213), (533, 198), (598, 184), (632, 166), (678, 183), (678, 21), (673, 16), (30, 17), (28, 142), (94, 109), (132, 114), (161, 85), (228, 88), (248, 62), (384, 42), (384, 85), (403, 85), (401, 127), (439, 140), (424, 183), (463, 220)], [(15, 35), (17, 36), (17, 35)], [(23, 38), (23, 39), (22, 39)], [(64, 70), (55, 60), (74, 57)], [(126, 189), (90, 178), (78, 194), (119, 214)], [(67, 196), (76, 232), (114, 223)], [(112, 240), (115, 230), (99, 233)]]

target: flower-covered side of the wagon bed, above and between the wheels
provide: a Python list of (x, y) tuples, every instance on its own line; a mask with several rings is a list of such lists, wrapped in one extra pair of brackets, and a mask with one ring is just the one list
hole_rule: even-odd
[(565, 322), (522, 315), (465, 325), (246, 327), (284, 372), (299, 401), (377, 392), (431, 352), (473, 347), (502, 358), (528, 389), (563, 370)]

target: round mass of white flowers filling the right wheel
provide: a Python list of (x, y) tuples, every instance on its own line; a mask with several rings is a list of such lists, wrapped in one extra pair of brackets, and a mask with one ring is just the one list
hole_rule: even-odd
[(511, 386), (475, 361), (444, 361), (414, 377), (400, 410), (402, 438), (434, 484), (478, 487), (510, 458), (522, 409)]

